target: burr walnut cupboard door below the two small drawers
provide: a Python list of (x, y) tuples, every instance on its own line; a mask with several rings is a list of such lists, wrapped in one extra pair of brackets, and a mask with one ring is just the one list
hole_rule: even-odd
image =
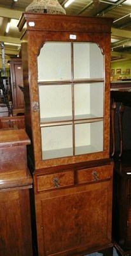
[(39, 256), (89, 252), (111, 243), (110, 184), (36, 195)]

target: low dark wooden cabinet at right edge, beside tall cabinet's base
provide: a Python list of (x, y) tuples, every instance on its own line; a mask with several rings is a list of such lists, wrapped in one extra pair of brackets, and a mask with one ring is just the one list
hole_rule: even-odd
[(113, 239), (119, 255), (131, 255), (131, 150), (114, 156)]

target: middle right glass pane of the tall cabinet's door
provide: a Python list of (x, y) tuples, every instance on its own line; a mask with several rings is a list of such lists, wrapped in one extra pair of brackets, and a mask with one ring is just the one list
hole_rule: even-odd
[(74, 118), (103, 117), (103, 83), (74, 84)]

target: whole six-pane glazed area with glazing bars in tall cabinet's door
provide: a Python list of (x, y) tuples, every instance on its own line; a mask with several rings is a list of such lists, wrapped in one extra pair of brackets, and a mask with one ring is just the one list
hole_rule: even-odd
[(45, 42), (38, 89), (43, 160), (104, 150), (104, 56), (97, 44)]

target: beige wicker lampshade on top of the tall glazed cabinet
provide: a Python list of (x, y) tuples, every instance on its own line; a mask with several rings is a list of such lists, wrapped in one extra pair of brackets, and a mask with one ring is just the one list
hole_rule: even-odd
[(65, 14), (58, 0), (33, 0), (25, 9), (26, 12)]

